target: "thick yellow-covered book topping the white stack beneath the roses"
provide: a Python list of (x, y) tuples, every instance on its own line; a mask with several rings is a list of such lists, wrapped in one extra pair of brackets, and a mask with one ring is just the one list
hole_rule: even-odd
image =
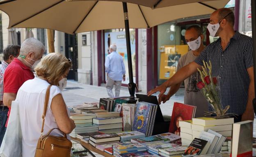
[(199, 117), (192, 119), (193, 124), (202, 125), (202, 126), (216, 126), (216, 125), (227, 125), (233, 124), (234, 118), (219, 118), (216, 117)]

